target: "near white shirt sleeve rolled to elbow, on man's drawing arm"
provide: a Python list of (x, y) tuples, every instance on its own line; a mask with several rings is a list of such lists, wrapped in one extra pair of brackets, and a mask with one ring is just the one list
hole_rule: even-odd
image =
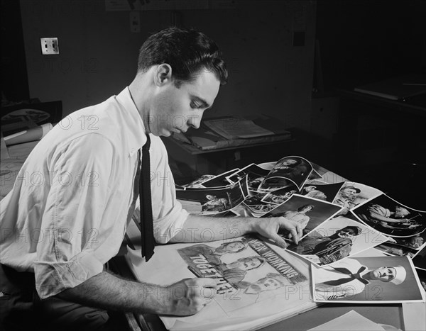
[(73, 288), (102, 272), (105, 261), (96, 250), (113, 231), (113, 224), (102, 223), (113, 186), (111, 142), (96, 133), (66, 142), (55, 151), (51, 169), (42, 216), (45, 235), (38, 242), (34, 261), (40, 298)]

